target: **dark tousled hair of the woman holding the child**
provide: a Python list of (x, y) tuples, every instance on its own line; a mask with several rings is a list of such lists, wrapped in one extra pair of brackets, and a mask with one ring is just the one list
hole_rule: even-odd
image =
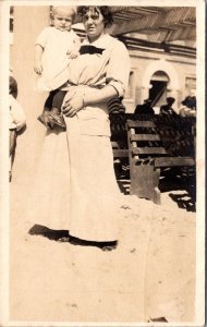
[(108, 5), (78, 5), (77, 15), (83, 17), (89, 10), (100, 11), (105, 20), (105, 27), (110, 27), (113, 24), (113, 16)]

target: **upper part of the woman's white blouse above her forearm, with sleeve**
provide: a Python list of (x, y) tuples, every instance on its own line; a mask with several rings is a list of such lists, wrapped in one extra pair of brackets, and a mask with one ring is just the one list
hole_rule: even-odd
[(74, 85), (112, 85), (123, 96), (130, 75), (130, 56), (123, 43), (105, 34), (93, 44), (86, 38), (83, 46), (93, 46), (102, 53), (84, 53), (71, 60), (69, 82)]

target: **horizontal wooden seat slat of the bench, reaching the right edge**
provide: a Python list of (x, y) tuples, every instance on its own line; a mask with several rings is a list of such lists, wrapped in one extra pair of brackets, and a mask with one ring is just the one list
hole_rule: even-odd
[(195, 166), (195, 160), (191, 157), (163, 157), (155, 158), (155, 167), (173, 167), (173, 166)]

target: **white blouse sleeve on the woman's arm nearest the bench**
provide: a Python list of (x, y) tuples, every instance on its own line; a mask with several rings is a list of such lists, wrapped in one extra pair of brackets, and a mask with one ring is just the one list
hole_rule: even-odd
[(123, 97), (127, 87), (130, 69), (127, 49), (121, 41), (115, 40), (109, 59), (106, 81), (117, 89), (120, 97)]

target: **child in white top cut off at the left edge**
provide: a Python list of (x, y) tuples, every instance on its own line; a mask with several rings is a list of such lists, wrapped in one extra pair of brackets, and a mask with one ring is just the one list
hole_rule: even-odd
[(21, 105), (16, 100), (17, 97), (17, 83), (14, 77), (9, 77), (9, 105), (10, 105), (10, 149), (9, 149), (9, 158), (10, 158), (10, 171), (9, 171), (9, 180), (12, 180), (12, 166), (15, 157), (16, 149), (16, 138), (20, 133), (25, 130), (26, 126), (26, 117), (24, 110)]

